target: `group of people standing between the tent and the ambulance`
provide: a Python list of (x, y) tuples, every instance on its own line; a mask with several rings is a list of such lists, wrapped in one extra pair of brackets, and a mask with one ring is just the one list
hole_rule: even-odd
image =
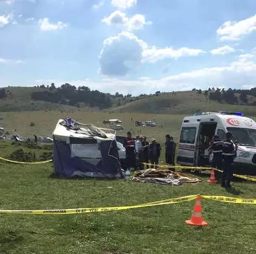
[[(165, 138), (165, 161), (168, 165), (175, 165), (176, 143), (170, 135), (166, 135)], [(161, 155), (161, 145), (156, 142), (155, 138), (151, 139), (151, 143), (147, 141), (145, 136), (137, 136), (134, 139), (129, 131), (127, 132), (124, 147), (126, 148), (127, 168), (130, 169), (132, 167), (135, 170), (144, 170), (144, 163), (146, 163), (146, 168), (150, 167), (149, 163), (151, 168), (157, 168)]]

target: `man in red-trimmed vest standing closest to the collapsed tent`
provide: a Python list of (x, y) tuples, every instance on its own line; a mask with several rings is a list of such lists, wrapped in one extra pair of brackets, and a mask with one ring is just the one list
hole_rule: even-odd
[(136, 152), (135, 152), (135, 142), (131, 137), (131, 132), (127, 132), (127, 137), (124, 141), (124, 147), (126, 149), (126, 166), (130, 170), (131, 167), (136, 169)]

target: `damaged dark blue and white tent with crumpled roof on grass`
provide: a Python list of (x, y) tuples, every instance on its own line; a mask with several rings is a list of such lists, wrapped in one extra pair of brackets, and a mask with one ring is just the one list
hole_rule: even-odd
[(60, 119), (53, 131), (54, 171), (62, 177), (122, 178), (115, 131)]

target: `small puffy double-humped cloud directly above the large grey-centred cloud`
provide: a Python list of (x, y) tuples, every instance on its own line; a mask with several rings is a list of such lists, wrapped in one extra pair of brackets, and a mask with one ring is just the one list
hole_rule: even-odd
[(135, 14), (129, 18), (124, 12), (119, 10), (112, 12), (109, 17), (102, 19), (102, 22), (109, 26), (115, 25), (127, 31), (139, 30), (144, 28), (145, 24), (152, 24), (151, 21), (146, 22), (145, 17), (141, 14)]

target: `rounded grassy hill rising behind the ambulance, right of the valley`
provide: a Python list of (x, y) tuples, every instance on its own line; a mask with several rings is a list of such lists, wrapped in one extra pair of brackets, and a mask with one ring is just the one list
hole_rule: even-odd
[[(250, 99), (252, 99), (251, 102), (255, 101), (255, 97)], [(256, 115), (256, 106), (216, 102), (196, 91), (164, 93), (142, 98), (116, 107), (114, 112), (192, 114), (194, 112), (220, 110), (242, 111), (250, 116)]]

